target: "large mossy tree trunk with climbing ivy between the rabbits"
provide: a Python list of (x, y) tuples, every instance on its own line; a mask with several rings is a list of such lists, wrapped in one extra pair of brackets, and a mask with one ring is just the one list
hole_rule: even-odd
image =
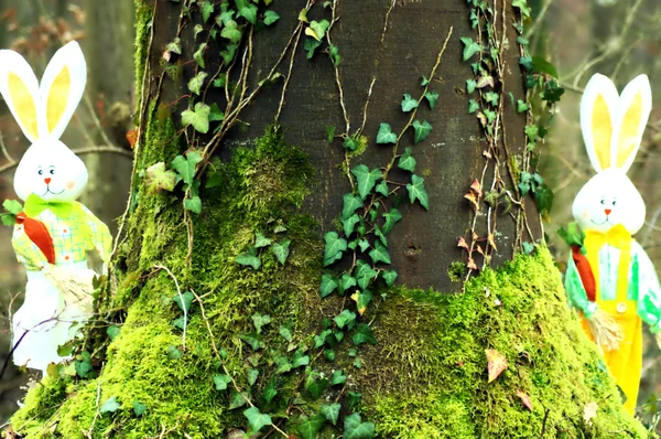
[(13, 428), (643, 437), (531, 244), (520, 2), (312, 3), (138, 0), (140, 130), (110, 281)]

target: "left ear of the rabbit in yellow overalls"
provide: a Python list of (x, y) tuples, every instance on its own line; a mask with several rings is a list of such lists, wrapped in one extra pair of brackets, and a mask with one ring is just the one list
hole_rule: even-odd
[(610, 143), (619, 96), (615, 84), (595, 74), (581, 99), (581, 129), (593, 168), (600, 172), (610, 168)]

